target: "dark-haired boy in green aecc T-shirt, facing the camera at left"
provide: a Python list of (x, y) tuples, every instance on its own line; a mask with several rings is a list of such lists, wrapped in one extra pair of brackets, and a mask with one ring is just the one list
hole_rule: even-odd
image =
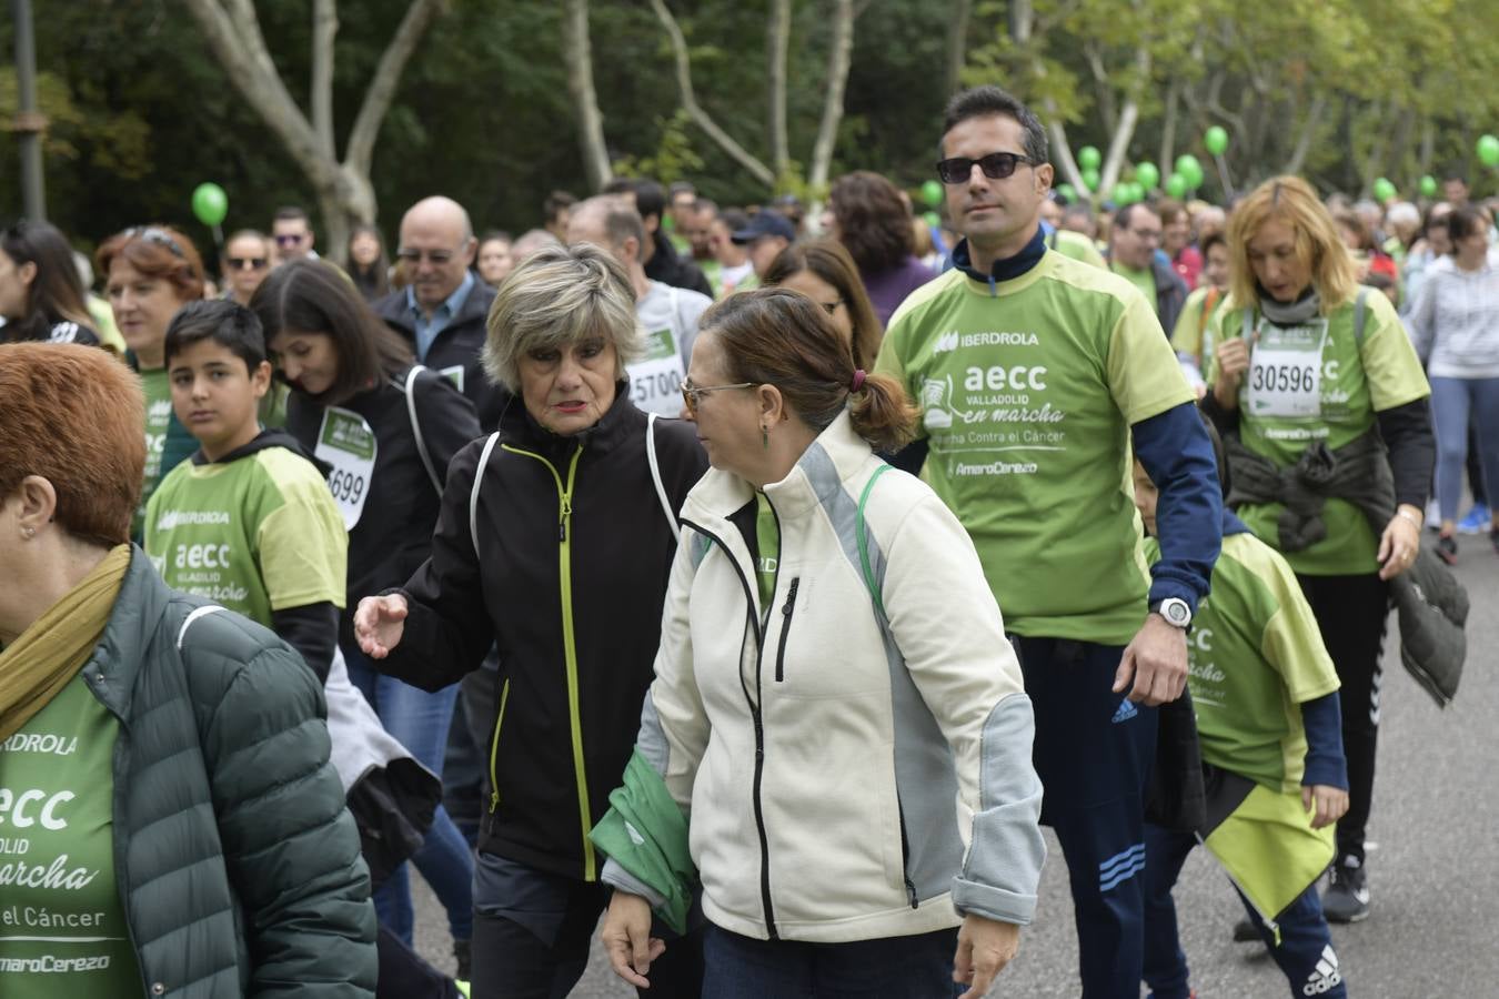
[(325, 681), (348, 533), (297, 440), (261, 428), (271, 368), (259, 321), (234, 303), (186, 306), (166, 331), (166, 370), (199, 449), (151, 496), (147, 554), (168, 586), (273, 629)]

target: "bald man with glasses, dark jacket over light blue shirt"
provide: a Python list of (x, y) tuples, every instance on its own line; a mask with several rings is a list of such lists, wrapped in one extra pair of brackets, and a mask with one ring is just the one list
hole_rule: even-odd
[(406, 286), (375, 303), (390, 327), (411, 341), (420, 364), (453, 379), (495, 430), (505, 389), (484, 374), (484, 319), (495, 289), (474, 276), (478, 240), (463, 205), (441, 195), (423, 198), (400, 219), (396, 259)]

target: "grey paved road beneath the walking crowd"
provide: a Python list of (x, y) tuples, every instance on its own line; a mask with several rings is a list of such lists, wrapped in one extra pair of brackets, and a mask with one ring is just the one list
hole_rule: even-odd
[[(1429, 533), (1430, 539), (1432, 535)], [(1499, 996), (1499, 557), (1487, 538), (1462, 539), (1459, 577), (1472, 599), (1468, 675), (1439, 711), (1387, 655), (1379, 779), (1370, 837), (1373, 915), (1334, 927), (1352, 995), (1378, 999)], [(1391, 628), (1394, 628), (1391, 625)], [(1393, 641), (1390, 643), (1394, 644)], [(1067, 873), (1055, 839), (1036, 924), (992, 995), (1076, 996), (1076, 948)], [(1177, 887), (1192, 984), (1202, 999), (1286, 995), (1279, 969), (1258, 945), (1234, 944), (1238, 902), (1204, 851)], [(447, 954), (447, 930), (424, 887), (418, 948)], [(579, 999), (624, 998), (595, 947)]]

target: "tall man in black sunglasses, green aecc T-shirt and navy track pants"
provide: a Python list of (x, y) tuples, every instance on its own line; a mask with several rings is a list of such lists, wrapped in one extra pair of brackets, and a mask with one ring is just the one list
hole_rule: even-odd
[[(967, 527), (1019, 652), (1082, 995), (1133, 996), (1157, 711), (1186, 686), (1187, 628), (1222, 541), (1213, 448), (1151, 304), (1046, 247), (1052, 168), (1036, 115), (998, 87), (959, 93), (940, 150), (965, 240), (880, 349), (875, 370), (925, 410), (922, 440), (896, 463), (925, 463)], [(1132, 449), (1160, 485), (1148, 575)]]

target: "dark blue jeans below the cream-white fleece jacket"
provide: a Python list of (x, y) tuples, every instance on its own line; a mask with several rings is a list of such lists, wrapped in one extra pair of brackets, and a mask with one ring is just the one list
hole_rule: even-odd
[(851, 944), (755, 941), (709, 924), (703, 999), (961, 996), (952, 981), (958, 930)]

